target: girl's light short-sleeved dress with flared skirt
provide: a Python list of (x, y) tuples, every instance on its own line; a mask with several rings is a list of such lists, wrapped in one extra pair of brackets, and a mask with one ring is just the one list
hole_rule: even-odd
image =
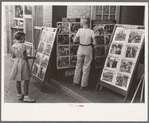
[(24, 59), (24, 57), (27, 57), (27, 52), (23, 43), (12, 46), (12, 57), (15, 58), (15, 62), (11, 70), (10, 80), (30, 80), (31, 70), (28, 60)]

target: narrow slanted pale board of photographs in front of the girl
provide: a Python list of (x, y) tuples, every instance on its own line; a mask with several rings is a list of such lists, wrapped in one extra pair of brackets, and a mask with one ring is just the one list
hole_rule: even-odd
[(36, 60), (32, 67), (32, 75), (44, 80), (46, 70), (49, 63), (49, 58), (52, 51), (52, 46), (54, 44), (56, 35), (55, 28), (45, 28), (42, 30), (40, 35), (40, 41), (37, 48)]

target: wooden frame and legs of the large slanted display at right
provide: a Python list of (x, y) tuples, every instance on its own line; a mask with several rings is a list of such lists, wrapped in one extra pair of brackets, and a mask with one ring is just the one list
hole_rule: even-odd
[[(135, 28), (135, 29), (144, 29), (144, 26), (139, 26), (139, 25), (122, 25), (122, 24), (116, 24), (116, 25), (115, 25), (114, 32), (113, 32), (113, 36), (112, 36), (112, 38), (111, 38), (111, 44), (112, 44), (112, 41), (113, 41), (113, 38), (114, 38), (114, 34), (115, 34), (115, 32), (116, 32), (117, 27), (128, 27), (128, 29), (133, 29), (133, 28)], [(127, 87), (127, 90), (123, 90), (123, 89), (121, 89), (121, 88), (118, 88), (118, 87), (116, 87), (116, 86), (114, 86), (114, 85), (112, 85), (112, 84), (109, 84), (109, 83), (104, 82), (103, 80), (101, 80), (101, 76), (102, 76), (102, 73), (103, 73), (103, 70), (104, 70), (104, 67), (103, 67), (103, 68), (102, 68), (102, 72), (101, 72), (101, 74), (99, 75), (99, 78), (98, 78), (98, 82), (97, 82), (95, 91), (97, 91), (99, 85), (101, 86), (101, 87), (100, 87), (100, 90), (102, 89), (102, 86), (103, 86), (103, 87), (106, 87), (106, 88), (109, 88), (110, 90), (113, 90), (113, 91), (115, 91), (115, 92), (117, 92), (117, 93), (119, 93), (119, 94), (125, 96), (124, 102), (126, 102), (128, 93), (129, 93), (129, 91), (130, 91), (130, 86), (131, 86), (131, 83), (132, 83), (132, 79), (134, 78), (134, 74), (135, 74), (135, 71), (136, 71), (136, 69), (137, 69), (138, 60), (139, 60), (139, 57), (140, 57), (140, 54), (141, 54), (141, 50), (142, 50), (142, 47), (143, 47), (143, 43), (144, 43), (144, 38), (141, 39), (141, 40), (142, 40), (142, 43), (141, 43), (140, 51), (139, 51), (139, 53), (138, 53), (138, 57), (135, 58), (135, 59), (136, 59), (136, 62), (135, 62), (135, 65), (134, 65), (134, 70), (132, 71), (131, 76), (129, 76), (129, 77), (130, 77), (130, 82), (129, 82), (129, 85), (128, 85), (128, 87)], [(110, 46), (111, 46), (111, 44), (110, 44)], [(126, 49), (126, 48), (125, 48), (125, 49)], [(139, 48), (138, 48), (138, 49), (139, 49)], [(108, 57), (108, 54), (107, 54), (107, 57)], [(107, 58), (107, 57), (106, 57), (106, 58)], [(125, 74), (124, 74), (124, 75), (125, 75)]]

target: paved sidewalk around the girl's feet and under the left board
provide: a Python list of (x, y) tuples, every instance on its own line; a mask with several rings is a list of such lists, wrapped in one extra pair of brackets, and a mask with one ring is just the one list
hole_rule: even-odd
[[(9, 76), (13, 63), (10, 55), (4, 56), (4, 103), (24, 103), (17, 99), (15, 82), (9, 81)], [(23, 85), (24, 83), (22, 83)], [(41, 92), (42, 83), (31, 79), (29, 93), (36, 103), (79, 103), (68, 94), (56, 89), (49, 83), (45, 83), (44, 90)]]

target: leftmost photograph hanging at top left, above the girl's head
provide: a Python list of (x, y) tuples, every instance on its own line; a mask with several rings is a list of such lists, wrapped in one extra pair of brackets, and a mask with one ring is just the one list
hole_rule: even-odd
[(23, 6), (15, 5), (15, 18), (23, 18)]

